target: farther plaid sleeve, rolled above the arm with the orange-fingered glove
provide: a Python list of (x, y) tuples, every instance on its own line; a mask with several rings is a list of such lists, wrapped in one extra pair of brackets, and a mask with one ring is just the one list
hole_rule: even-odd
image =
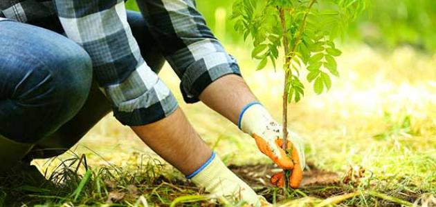
[(214, 37), (194, 0), (137, 0), (165, 59), (181, 79), (188, 103), (213, 81), (241, 75), (237, 61)]

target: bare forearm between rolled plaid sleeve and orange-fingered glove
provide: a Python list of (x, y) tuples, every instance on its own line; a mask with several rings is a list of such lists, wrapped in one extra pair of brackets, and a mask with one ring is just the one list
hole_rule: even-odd
[(238, 75), (226, 75), (210, 83), (199, 99), (236, 125), (242, 108), (257, 101), (244, 79)]

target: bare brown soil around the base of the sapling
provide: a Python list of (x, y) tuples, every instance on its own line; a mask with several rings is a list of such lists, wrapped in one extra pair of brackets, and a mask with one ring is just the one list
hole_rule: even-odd
[[(278, 188), (274, 188), (275, 186), (269, 181), (271, 175), (274, 175), (276, 172), (281, 172), (282, 169), (272, 164), (232, 165), (229, 166), (229, 168), (241, 179), (246, 181), (257, 194), (263, 195), (266, 200), (272, 202), (273, 194), (275, 194), (278, 201), (284, 199), (282, 189), (279, 189), (280, 192), (273, 193), (273, 190), (277, 190)], [(365, 169), (361, 166), (349, 166), (349, 170), (345, 173), (340, 173), (340, 175), (336, 172), (320, 170), (311, 163), (307, 164), (306, 169), (307, 170), (303, 173), (303, 179), (299, 189), (306, 195), (320, 199), (327, 199), (328, 197), (354, 192), (355, 189), (353, 186), (358, 186), (365, 173)], [(292, 196), (300, 197), (301, 195), (294, 193)], [(410, 191), (399, 192), (399, 194), (395, 196), (410, 202), (414, 202), (420, 197), (419, 194), (410, 193)], [(432, 197), (432, 199), (434, 199), (434, 197)], [(382, 206), (401, 206), (391, 201), (383, 201), (383, 199), (379, 199), (379, 202)]]

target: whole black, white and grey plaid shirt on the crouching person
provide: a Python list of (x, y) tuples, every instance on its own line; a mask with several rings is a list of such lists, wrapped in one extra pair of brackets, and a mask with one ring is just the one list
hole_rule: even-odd
[[(124, 1), (53, 0), (55, 10), (51, 1), (14, 2), (8, 5), (0, 0), (4, 17), (32, 23), (50, 19), (56, 11), (67, 37), (91, 56), (94, 76), (122, 124), (149, 124), (174, 112), (174, 96), (140, 56)], [(138, 4), (163, 55), (181, 79), (185, 101), (199, 101), (204, 88), (219, 77), (240, 75), (237, 62), (210, 32), (194, 0), (138, 0)], [(36, 6), (46, 8), (45, 12), (35, 10)]]

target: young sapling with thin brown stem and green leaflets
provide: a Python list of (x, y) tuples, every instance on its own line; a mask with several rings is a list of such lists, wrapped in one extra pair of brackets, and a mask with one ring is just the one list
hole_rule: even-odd
[[(279, 49), (284, 52), (284, 90), (282, 110), (283, 149), (287, 150), (288, 104), (305, 95), (300, 77), (306, 79), (316, 94), (331, 88), (331, 75), (339, 77), (336, 57), (342, 52), (334, 40), (340, 37), (347, 23), (356, 19), (367, 7), (368, 0), (237, 0), (232, 18), (235, 30), (251, 37), (251, 56), (259, 59), (257, 70), (266, 63), (275, 63)], [(287, 152), (290, 155), (290, 152)], [(291, 172), (285, 171), (284, 190)]]

